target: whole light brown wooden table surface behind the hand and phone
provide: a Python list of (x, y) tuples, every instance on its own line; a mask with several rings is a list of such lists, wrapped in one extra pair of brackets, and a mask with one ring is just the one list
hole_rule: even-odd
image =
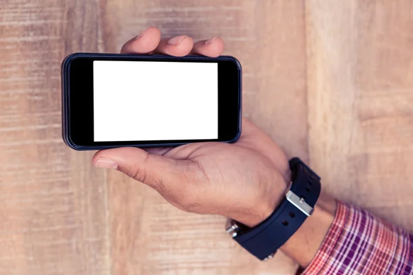
[(60, 64), (118, 52), (149, 25), (221, 36), (244, 115), (324, 189), (413, 230), (413, 3), (2, 0), (0, 274), (293, 274), (260, 263), (224, 218), (188, 214), (61, 140)]

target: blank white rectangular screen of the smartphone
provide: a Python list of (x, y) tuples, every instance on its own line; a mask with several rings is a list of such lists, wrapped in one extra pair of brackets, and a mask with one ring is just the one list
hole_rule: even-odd
[(218, 139), (218, 63), (94, 61), (94, 141)]

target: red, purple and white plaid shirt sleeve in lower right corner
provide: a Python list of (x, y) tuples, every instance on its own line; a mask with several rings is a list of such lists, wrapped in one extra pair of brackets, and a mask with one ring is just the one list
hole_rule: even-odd
[(338, 201), (330, 230), (301, 275), (413, 274), (412, 265), (413, 235)]

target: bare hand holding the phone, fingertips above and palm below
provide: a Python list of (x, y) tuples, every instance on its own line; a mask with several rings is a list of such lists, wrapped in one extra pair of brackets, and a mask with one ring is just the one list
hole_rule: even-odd
[[(220, 38), (196, 43), (189, 36), (160, 39), (160, 30), (148, 28), (125, 43), (121, 52), (212, 57), (220, 56), (223, 49)], [(242, 123), (242, 134), (234, 144), (113, 148), (98, 151), (92, 162), (151, 186), (182, 210), (220, 214), (253, 227), (281, 202), (290, 181), (290, 169), (286, 155), (268, 135), (248, 120)]]

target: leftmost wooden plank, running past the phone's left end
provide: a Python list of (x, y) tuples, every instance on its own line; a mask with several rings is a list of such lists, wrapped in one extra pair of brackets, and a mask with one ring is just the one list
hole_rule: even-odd
[(0, 3), (0, 274), (109, 274), (105, 177), (60, 126), (60, 63), (98, 50), (96, 10)]

